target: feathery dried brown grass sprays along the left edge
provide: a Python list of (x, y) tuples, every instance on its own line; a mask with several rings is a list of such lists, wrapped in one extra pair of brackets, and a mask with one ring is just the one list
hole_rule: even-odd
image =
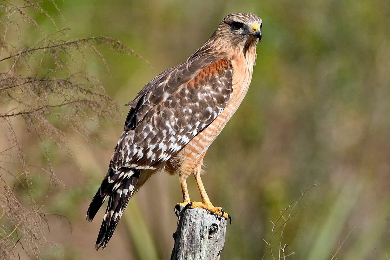
[[(55, 2), (50, 2), (59, 12)], [(44, 140), (51, 139), (64, 154), (73, 157), (69, 148), (72, 138), (68, 131), (87, 141), (96, 140), (88, 121), (94, 122), (99, 129), (98, 120), (115, 119), (121, 112), (96, 77), (80, 72), (87, 60), (85, 51), (98, 55), (105, 65), (97, 45), (108, 46), (113, 53), (135, 55), (144, 60), (120, 41), (109, 37), (60, 39), (69, 29), (58, 30), (53, 18), (40, 4), (23, 1), (18, 5), (6, 0), (0, 5), (0, 13), (5, 14), (0, 21), (0, 130), (7, 142), (3, 144), (5, 149), (0, 151), (0, 182), (4, 187), (4, 191), (0, 192), (1, 259), (20, 258), (18, 248), (31, 258), (39, 259), (42, 248), (51, 246), (45, 238), (48, 225), (43, 205), (35, 202), (32, 196), (34, 186), (31, 177), (32, 174), (46, 173), (50, 185), (64, 184), (53, 171)], [(31, 11), (50, 18), (57, 32), (46, 35), (28, 15)], [(29, 25), (33, 28), (28, 28)], [(23, 32), (34, 27), (43, 35), (43, 40), (34, 46), (20, 47), (25, 36)], [(46, 157), (43, 165), (31, 163), (26, 158), (21, 141), (25, 135), (42, 143), (44, 149), (38, 152)], [(25, 189), (28, 205), (23, 205), (18, 199), (13, 188), (15, 185)]]

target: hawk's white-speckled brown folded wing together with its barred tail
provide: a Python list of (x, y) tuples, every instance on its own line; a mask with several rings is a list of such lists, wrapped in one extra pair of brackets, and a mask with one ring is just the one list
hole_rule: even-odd
[(160, 74), (129, 103), (125, 129), (87, 212), (92, 221), (109, 198), (96, 249), (110, 240), (141, 170), (167, 161), (225, 108), (233, 91), (232, 65), (206, 56)]

